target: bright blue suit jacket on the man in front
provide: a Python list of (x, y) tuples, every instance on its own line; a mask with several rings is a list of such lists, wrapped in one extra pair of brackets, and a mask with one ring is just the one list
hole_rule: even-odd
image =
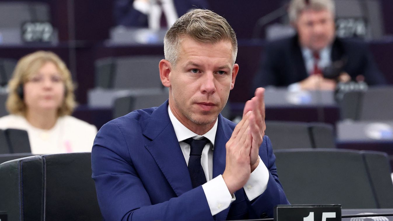
[[(267, 189), (248, 201), (243, 188), (236, 201), (216, 216), (202, 186), (192, 188), (182, 150), (168, 115), (158, 108), (133, 111), (105, 124), (92, 149), (92, 171), (105, 220), (225, 220), (273, 217), (277, 204), (288, 204), (278, 180), (268, 137), (259, 155), (269, 174)], [(225, 169), (225, 144), (235, 124), (221, 115), (213, 152), (213, 178)]]

